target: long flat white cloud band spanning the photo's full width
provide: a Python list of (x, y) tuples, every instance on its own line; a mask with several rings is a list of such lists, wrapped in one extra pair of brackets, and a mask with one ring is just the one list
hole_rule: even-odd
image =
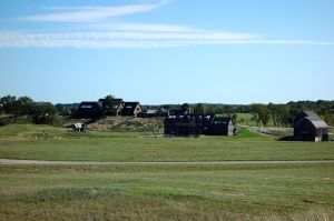
[(334, 44), (325, 41), (267, 40), (228, 32), (11, 32), (0, 31), (0, 48), (170, 48), (202, 44)]

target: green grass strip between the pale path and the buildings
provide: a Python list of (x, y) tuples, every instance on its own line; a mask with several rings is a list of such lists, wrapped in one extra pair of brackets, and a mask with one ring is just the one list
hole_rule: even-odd
[(0, 158), (76, 161), (333, 160), (333, 142), (284, 142), (242, 129), (237, 137), (155, 138), (72, 133), (45, 125), (0, 128)]

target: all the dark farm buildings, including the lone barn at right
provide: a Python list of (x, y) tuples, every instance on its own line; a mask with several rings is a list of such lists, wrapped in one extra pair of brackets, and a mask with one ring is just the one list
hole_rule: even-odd
[[(127, 102), (115, 99), (115, 115), (132, 115), (140, 118), (164, 117), (166, 135), (236, 135), (237, 125), (232, 118), (219, 118), (214, 114), (194, 114), (187, 111), (164, 108), (143, 109), (139, 102)], [(94, 119), (105, 114), (106, 99), (82, 101), (73, 117)], [(316, 113), (303, 111), (295, 117), (294, 140), (328, 141), (328, 125)]]

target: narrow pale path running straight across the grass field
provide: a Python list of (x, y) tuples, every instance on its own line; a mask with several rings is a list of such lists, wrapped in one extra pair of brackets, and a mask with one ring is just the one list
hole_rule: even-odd
[(59, 164), (59, 165), (98, 165), (98, 164), (312, 164), (312, 163), (334, 163), (334, 160), (305, 160), (305, 161), (171, 161), (171, 162), (99, 162), (99, 161), (51, 161), (51, 160), (16, 160), (0, 159), (0, 164)]

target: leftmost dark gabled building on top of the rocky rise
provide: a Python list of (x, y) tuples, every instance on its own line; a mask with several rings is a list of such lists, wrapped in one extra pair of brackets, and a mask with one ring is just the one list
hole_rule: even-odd
[(92, 119), (104, 114), (104, 109), (98, 102), (82, 101), (75, 113), (75, 118)]

